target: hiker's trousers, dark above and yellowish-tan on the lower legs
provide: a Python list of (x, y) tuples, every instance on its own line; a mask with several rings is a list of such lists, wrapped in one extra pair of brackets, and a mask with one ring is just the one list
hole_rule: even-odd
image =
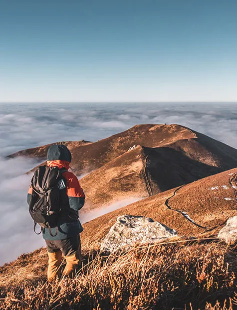
[(73, 278), (81, 264), (81, 240), (80, 235), (63, 240), (45, 240), (48, 253), (48, 281), (54, 281), (59, 277), (59, 268), (62, 255), (66, 260), (66, 266), (62, 276)]

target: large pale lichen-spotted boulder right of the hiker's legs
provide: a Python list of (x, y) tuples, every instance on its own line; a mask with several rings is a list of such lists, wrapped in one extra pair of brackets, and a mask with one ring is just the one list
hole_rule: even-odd
[(155, 243), (176, 236), (177, 232), (150, 217), (124, 214), (117, 217), (101, 243), (101, 251), (114, 252), (135, 243)]

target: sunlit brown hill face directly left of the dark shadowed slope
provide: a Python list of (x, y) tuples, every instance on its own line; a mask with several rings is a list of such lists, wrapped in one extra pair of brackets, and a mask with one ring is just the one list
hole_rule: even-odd
[(125, 152), (80, 180), (86, 193), (82, 213), (131, 197), (147, 197), (149, 193), (142, 176), (142, 147)]

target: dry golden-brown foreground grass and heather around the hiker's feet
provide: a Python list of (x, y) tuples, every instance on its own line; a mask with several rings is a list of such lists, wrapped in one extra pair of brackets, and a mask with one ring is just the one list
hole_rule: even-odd
[[(43, 251), (29, 254), (29, 273)], [(25, 281), (21, 274), (20, 282), (15, 272), (11, 282), (1, 280), (0, 308), (230, 310), (237, 305), (236, 248), (216, 240), (137, 246), (110, 256), (84, 252), (76, 278), (54, 284), (46, 281), (45, 258), (42, 263), (38, 277)], [(1, 275), (14, 267), (1, 267)]]

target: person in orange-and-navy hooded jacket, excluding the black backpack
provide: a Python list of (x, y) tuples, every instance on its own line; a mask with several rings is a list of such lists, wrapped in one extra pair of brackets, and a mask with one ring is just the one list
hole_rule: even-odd
[[(48, 148), (47, 166), (57, 166), (65, 180), (65, 189), (60, 196), (61, 210), (58, 213), (57, 224), (55, 227), (41, 228), (48, 253), (48, 281), (53, 281), (59, 276), (62, 255), (66, 260), (62, 276), (73, 277), (81, 264), (80, 233), (83, 227), (79, 221), (78, 211), (84, 205), (85, 194), (76, 175), (68, 171), (71, 158), (66, 145), (53, 144)], [(32, 193), (34, 189), (31, 185), (27, 195), (28, 204)]]

